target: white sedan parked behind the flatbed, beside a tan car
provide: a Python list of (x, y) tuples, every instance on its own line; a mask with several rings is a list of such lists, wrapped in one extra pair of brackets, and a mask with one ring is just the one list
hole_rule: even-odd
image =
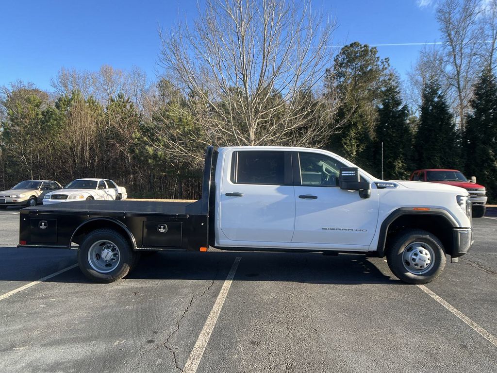
[(45, 194), (43, 204), (89, 199), (120, 200), (128, 196), (125, 187), (107, 179), (76, 179), (64, 188)]

